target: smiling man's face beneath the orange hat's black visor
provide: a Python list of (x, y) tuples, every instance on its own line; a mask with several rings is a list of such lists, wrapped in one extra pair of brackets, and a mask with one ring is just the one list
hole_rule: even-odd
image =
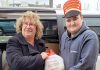
[(67, 30), (71, 34), (76, 34), (80, 30), (82, 22), (83, 22), (83, 17), (81, 15), (66, 18)]

